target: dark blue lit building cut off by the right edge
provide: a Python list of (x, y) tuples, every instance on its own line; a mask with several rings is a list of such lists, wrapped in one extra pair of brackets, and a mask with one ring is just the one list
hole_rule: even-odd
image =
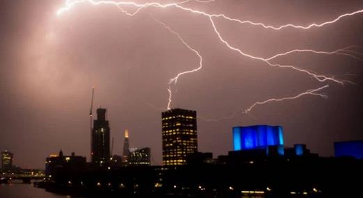
[(363, 159), (363, 140), (334, 142), (334, 156), (350, 156)]

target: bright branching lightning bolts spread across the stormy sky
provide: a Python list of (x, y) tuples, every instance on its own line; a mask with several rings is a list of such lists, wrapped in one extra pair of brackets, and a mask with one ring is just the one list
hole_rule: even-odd
[[(225, 44), (226, 47), (228, 47), (229, 49), (231, 49), (232, 51), (236, 51), (238, 53), (240, 53), (240, 55), (245, 56), (247, 58), (252, 58), (254, 60), (259, 60), (262, 61), (263, 63), (266, 63), (267, 65), (269, 65), (270, 67), (283, 67), (283, 68), (288, 68), (288, 69), (293, 69), (295, 71), (298, 72), (302, 72), (304, 74), (307, 74), (308, 76), (313, 77), (314, 79), (316, 79), (319, 82), (326, 82), (326, 81), (331, 81), (334, 83), (339, 83), (341, 85), (343, 85), (345, 82), (349, 82), (349, 81), (343, 81), (343, 80), (339, 80), (339, 79), (335, 79), (333, 76), (327, 76), (327, 75), (323, 75), (323, 74), (316, 74), (314, 72), (311, 72), (307, 69), (302, 69), (299, 67), (295, 67), (294, 65), (280, 65), (277, 63), (271, 63), (270, 61), (277, 59), (278, 57), (281, 56), (288, 56), (291, 53), (297, 53), (297, 52), (309, 52), (309, 53), (316, 53), (316, 54), (328, 54), (328, 55), (341, 55), (341, 56), (349, 56), (351, 58), (355, 58), (357, 60), (363, 60), (363, 58), (361, 57), (362, 54), (358, 53), (357, 51), (351, 50), (353, 47), (357, 47), (357, 46), (349, 46), (349, 47), (345, 47), (343, 49), (337, 49), (335, 51), (316, 51), (313, 49), (293, 49), (291, 51), (286, 51), (284, 53), (277, 53), (274, 56), (270, 56), (268, 58), (262, 58), (262, 57), (258, 57), (258, 56), (252, 56), (248, 53), (243, 52), (241, 49), (238, 49), (237, 47), (233, 47), (232, 44), (230, 44), (229, 42), (227, 42), (221, 35), (221, 33), (219, 33), (216, 25), (215, 25), (215, 21), (213, 20), (213, 18), (223, 18), (226, 21), (229, 22), (237, 22), (239, 24), (249, 24), (252, 26), (261, 26), (262, 28), (266, 28), (266, 29), (272, 29), (275, 31), (280, 31), (283, 28), (298, 28), (298, 29), (304, 29), (307, 30), (309, 28), (318, 28), (318, 27), (322, 27), (322, 26), (326, 26), (328, 24), (333, 24), (337, 21), (339, 21), (340, 19), (342, 19), (343, 17), (349, 17), (349, 16), (353, 16), (353, 15), (357, 15), (360, 13), (363, 13), (363, 10), (357, 10), (355, 12), (352, 13), (345, 13), (343, 15), (339, 15), (338, 17), (327, 21), (327, 22), (323, 22), (320, 24), (309, 24), (307, 26), (302, 26), (302, 25), (295, 25), (295, 24), (284, 24), (281, 26), (270, 26), (270, 25), (266, 25), (263, 24), (261, 22), (252, 22), (249, 20), (241, 20), (241, 19), (235, 19), (232, 17), (229, 17), (225, 14), (211, 14), (211, 13), (206, 13), (204, 11), (200, 11), (200, 10), (194, 10), (192, 8), (187, 8), (185, 6), (183, 6), (183, 4), (189, 3), (191, 1), (196, 1), (199, 3), (210, 3), (212, 1), (215, 0), (205, 0), (205, 1), (201, 1), (201, 0), (185, 0), (185, 1), (180, 1), (180, 2), (176, 2), (176, 3), (157, 3), (157, 2), (150, 2), (150, 3), (136, 3), (134, 1), (95, 1), (95, 0), (67, 0), (65, 1), (65, 6), (63, 8), (60, 8), (57, 11), (57, 15), (61, 15), (62, 13), (64, 13), (65, 11), (70, 10), (72, 7), (76, 6), (77, 4), (80, 3), (90, 3), (93, 6), (98, 6), (101, 4), (109, 4), (112, 6), (117, 6), (117, 8), (119, 10), (121, 10), (122, 13), (124, 13), (125, 15), (128, 15), (130, 17), (137, 15), (137, 13), (139, 13), (141, 10), (144, 10), (145, 8), (148, 7), (154, 7), (154, 8), (169, 8), (169, 7), (174, 7), (174, 8), (178, 8), (180, 10), (185, 10), (189, 13), (194, 13), (194, 14), (199, 14), (199, 15), (203, 15), (205, 17), (208, 17), (208, 19), (210, 20), (210, 24), (213, 27), (213, 31), (217, 34), (218, 39)], [(134, 10), (134, 12), (128, 12), (127, 10), (125, 10), (125, 6), (131, 6), (136, 8), (136, 10)], [(185, 42), (185, 40), (180, 36), (179, 33), (177, 33), (176, 31), (173, 31), (173, 29), (169, 26), (167, 26), (167, 24), (165, 24), (164, 22), (160, 22), (159, 20), (153, 18), (155, 20), (155, 22), (162, 24), (162, 26), (164, 26), (164, 28), (167, 28), (167, 30), (172, 33), (173, 35), (176, 35), (178, 37), (178, 39), (185, 45), (185, 47), (187, 47), (188, 49), (190, 49), (190, 51), (193, 51), (196, 56), (199, 57), (199, 67), (197, 67), (196, 69), (191, 69), (185, 72), (180, 72), (178, 73), (175, 77), (173, 77), (172, 79), (170, 79), (169, 84), (171, 83), (178, 83), (178, 79), (180, 76), (183, 76), (185, 74), (190, 74), (193, 72), (198, 72), (202, 67), (203, 67), (203, 58), (201, 56), (201, 54), (199, 53), (199, 51), (197, 51), (196, 49), (192, 48), (190, 46), (190, 44), (188, 44), (187, 42)], [(252, 106), (250, 106), (249, 108), (247, 108), (246, 110), (243, 111), (243, 113), (249, 113), (249, 111), (251, 111), (255, 106), (258, 105), (262, 105), (262, 104), (267, 104), (270, 103), (272, 101), (284, 101), (284, 100), (288, 100), (288, 99), (298, 99), (299, 97), (302, 97), (304, 95), (315, 95), (315, 96), (319, 96), (319, 97), (323, 97), (323, 98), (327, 98), (327, 95), (325, 94), (320, 94), (318, 93), (318, 91), (323, 90), (324, 88), (329, 87), (329, 85), (324, 85), (323, 87), (317, 88), (315, 90), (307, 90), (306, 92), (302, 92), (300, 94), (297, 94), (293, 97), (284, 97), (284, 98), (280, 98), (280, 99), (268, 99), (265, 101), (257, 101), (256, 103), (254, 103)], [(171, 87), (169, 86), (169, 88), (167, 89), (169, 92), (169, 98), (168, 98), (168, 104), (167, 104), (167, 109), (171, 109), (171, 99), (172, 99), (172, 92), (171, 92)], [(222, 119), (229, 119), (231, 117), (234, 117), (237, 113), (233, 113), (231, 115), (229, 115), (228, 117), (221, 117), (218, 119), (206, 119), (201, 117), (202, 119), (205, 119), (206, 121), (219, 121)]]

